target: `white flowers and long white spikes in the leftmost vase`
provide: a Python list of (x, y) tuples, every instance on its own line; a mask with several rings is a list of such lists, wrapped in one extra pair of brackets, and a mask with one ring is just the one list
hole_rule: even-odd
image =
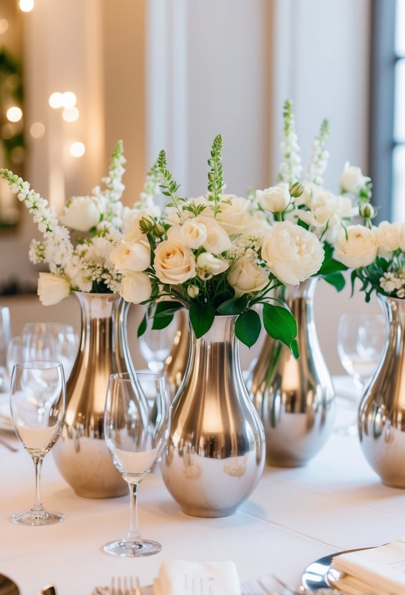
[[(132, 209), (122, 205), (124, 163), (123, 146), (119, 141), (112, 154), (109, 174), (102, 180), (106, 189), (96, 186), (91, 196), (71, 198), (65, 205), (62, 225), (55, 209), (30, 189), (28, 182), (9, 170), (0, 170), (0, 176), (29, 209), (43, 235), (42, 240), (32, 240), (29, 258), (34, 264), (49, 265), (50, 273), (39, 274), (38, 294), (44, 305), (59, 302), (72, 289), (93, 293), (119, 291), (121, 274), (110, 260), (112, 250), (137, 217), (148, 213), (159, 215), (153, 203), (159, 190), (156, 168), (147, 174), (140, 201)], [(78, 232), (81, 235), (74, 245), (71, 234)]]

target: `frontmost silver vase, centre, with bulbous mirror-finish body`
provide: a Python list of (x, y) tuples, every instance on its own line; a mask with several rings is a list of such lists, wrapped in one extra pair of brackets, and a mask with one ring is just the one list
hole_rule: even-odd
[(172, 405), (163, 480), (193, 516), (227, 516), (258, 483), (264, 433), (243, 382), (235, 317), (218, 316), (201, 339), (191, 333), (185, 378)]

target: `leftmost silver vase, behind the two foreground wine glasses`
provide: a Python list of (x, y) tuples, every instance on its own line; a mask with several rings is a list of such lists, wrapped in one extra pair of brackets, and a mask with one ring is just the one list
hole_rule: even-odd
[(80, 347), (67, 382), (64, 428), (52, 452), (78, 496), (122, 496), (128, 486), (108, 452), (103, 417), (110, 374), (133, 371), (126, 340), (128, 303), (116, 294), (75, 294), (82, 315)]

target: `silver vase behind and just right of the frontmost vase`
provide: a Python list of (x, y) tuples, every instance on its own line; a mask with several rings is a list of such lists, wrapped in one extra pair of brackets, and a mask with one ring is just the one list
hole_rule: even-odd
[(334, 389), (314, 321), (316, 278), (288, 287), (300, 357), (266, 335), (251, 376), (251, 398), (264, 425), (269, 465), (306, 465), (331, 433)]

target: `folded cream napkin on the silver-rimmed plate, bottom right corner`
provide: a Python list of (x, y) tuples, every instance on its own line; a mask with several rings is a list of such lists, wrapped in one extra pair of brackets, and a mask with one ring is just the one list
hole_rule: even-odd
[(385, 546), (336, 556), (331, 569), (344, 573), (334, 586), (350, 595), (404, 595), (405, 537)]

